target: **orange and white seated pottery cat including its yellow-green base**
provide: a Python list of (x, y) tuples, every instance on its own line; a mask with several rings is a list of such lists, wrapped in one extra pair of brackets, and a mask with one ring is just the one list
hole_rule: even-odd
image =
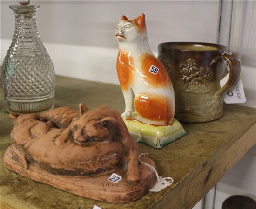
[(134, 20), (122, 16), (115, 36), (116, 67), (125, 99), (122, 116), (133, 136), (161, 148), (186, 131), (174, 119), (175, 94), (168, 72), (148, 46), (145, 15)]

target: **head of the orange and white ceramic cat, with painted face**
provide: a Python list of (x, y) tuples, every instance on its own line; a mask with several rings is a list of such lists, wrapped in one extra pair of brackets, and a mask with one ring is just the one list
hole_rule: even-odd
[(144, 14), (134, 20), (128, 20), (126, 16), (122, 16), (122, 20), (117, 23), (115, 37), (119, 42), (134, 42), (144, 35), (146, 35)]

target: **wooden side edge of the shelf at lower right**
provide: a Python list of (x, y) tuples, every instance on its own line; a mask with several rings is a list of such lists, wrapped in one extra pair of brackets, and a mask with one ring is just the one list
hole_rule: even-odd
[[(215, 159), (210, 158), (202, 164), (202, 171), (185, 185), (185, 181), (176, 186), (154, 208), (191, 208), (218, 182), (222, 176), (236, 164), (243, 155), (255, 144), (256, 124), (240, 137), (227, 150)], [(190, 174), (191, 175), (191, 174)]]

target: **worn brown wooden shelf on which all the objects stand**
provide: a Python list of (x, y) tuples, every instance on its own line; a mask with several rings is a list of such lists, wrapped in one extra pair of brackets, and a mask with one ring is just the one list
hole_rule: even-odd
[[(3, 165), (3, 156), (11, 144), (12, 121), (0, 90), (0, 202), (3, 208), (102, 209), (191, 208), (215, 183), (256, 144), (256, 109), (224, 105), (224, 116), (207, 123), (182, 123), (188, 134), (156, 150), (139, 144), (148, 152), (160, 176), (174, 178), (172, 186), (160, 192), (148, 192), (139, 200), (126, 204), (104, 203), (76, 196), (49, 185), (13, 173)], [(77, 108), (84, 102), (89, 109), (107, 105), (124, 110), (118, 85), (57, 77), (55, 107)]]

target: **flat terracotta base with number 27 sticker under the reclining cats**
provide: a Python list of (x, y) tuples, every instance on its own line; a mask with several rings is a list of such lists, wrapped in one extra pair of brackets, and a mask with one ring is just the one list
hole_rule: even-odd
[[(8, 169), (35, 181), (47, 183), (58, 189), (95, 200), (104, 202), (132, 202), (143, 196), (154, 186), (156, 181), (154, 171), (142, 163), (139, 165), (142, 180), (137, 185), (126, 183), (126, 172), (121, 169), (113, 170), (102, 176), (92, 177), (53, 175), (35, 164), (29, 165), (28, 170), (26, 170), (17, 157), (12, 155), (12, 146), (8, 147), (4, 156), (4, 163)], [(155, 166), (155, 163), (148, 157), (142, 156), (141, 161)], [(109, 182), (108, 178), (112, 173), (122, 176), (121, 181), (118, 183)]]

